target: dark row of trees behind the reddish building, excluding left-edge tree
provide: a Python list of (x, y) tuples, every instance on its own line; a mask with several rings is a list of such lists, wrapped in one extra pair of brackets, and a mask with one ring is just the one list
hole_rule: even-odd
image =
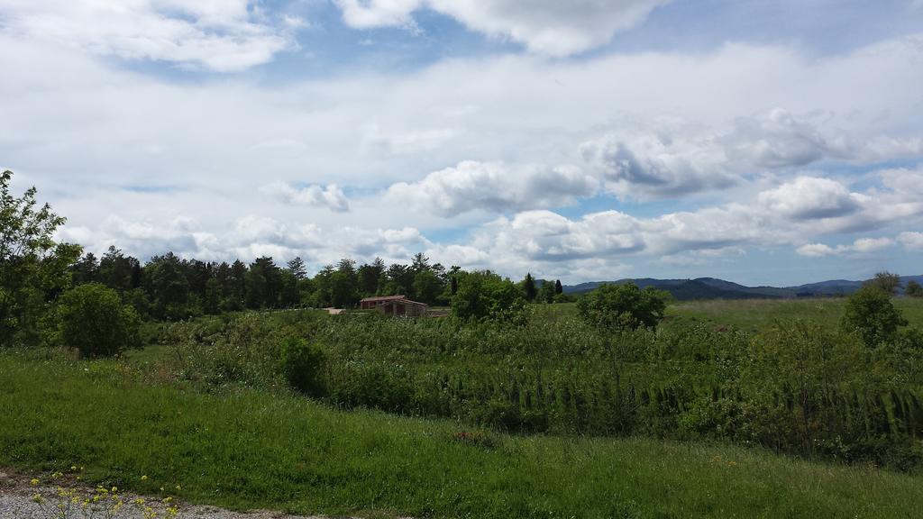
[[(156, 320), (243, 309), (354, 308), (369, 296), (400, 295), (449, 306), (462, 279), (471, 275), (458, 266), (447, 269), (431, 263), (423, 253), (409, 263), (390, 265), (376, 258), (357, 266), (354, 259), (344, 258), (311, 277), (300, 257), (284, 265), (266, 256), (247, 264), (240, 259), (233, 263), (184, 259), (169, 252), (142, 264), (116, 247), (109, 247), (101, 258), (88, 252), (68, 271), (73, 284), (104, 284), (139, 314)], [(559, 280), (541, 283), (527, 274), (514, 291), (526, 301), (553, 302), (556, 296), (561, 298), (563, 287)]]

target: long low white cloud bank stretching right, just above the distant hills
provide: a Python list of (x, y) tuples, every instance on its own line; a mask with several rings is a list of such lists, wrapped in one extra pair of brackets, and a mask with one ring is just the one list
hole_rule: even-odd
[[(647, 218), (601, 211), (569, 219), (551, 211), (524, 211), (480, 227), (469, 243), (473, 250), (466, 253), (473, 258), (489, 258), (487, 264), (499, 265), (507, 272), (560, 272), (560, 265), (581, 264), (589, 277), (577, 279), (612, 279), (611, 275), (599, 276), (635, 257), (688, 267), (746, 254), (751, 247), (797, 246), (797, 254), (809, 257), (869, 254), (896, 242), (886, 236), (859, 237), (836, 247), (804, 242), (808, 236), (886, 228), (907, 218), (918, 221), (923, 217), (923, 204), (906, 201), (913, 199), (912, 195), (877, 189), (852, 193), (828, 182), (833, 181), (800, 177), (749, 200)], [(829, 197), (829, 193), (837, 196)], [(786, 194), (795, 198), (787, 199)], [(855, 200), (855, 208), (833, 211), (831, 208), (840, 205), (830, 200), (841, 196)], [(904, 209), (885, 210), (894, 205)], [(904, 233), (897, 241), (907, 247), (917, 243), (923, 247), (923, 235), (918, 233)], [(595, 275), (587, 270), (587, 263), (581, 263), (590, 259), (604, 260), (595, 265), (602, 269)]]

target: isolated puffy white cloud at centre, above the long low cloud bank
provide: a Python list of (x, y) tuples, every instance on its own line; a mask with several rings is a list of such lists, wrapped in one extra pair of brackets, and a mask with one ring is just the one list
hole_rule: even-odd
[(464, 161), (414, 183), (389, 187), (387, 198), (451, 217), (467, 211), (560, 207), (596, 193), (598, 182), (572, 166)]

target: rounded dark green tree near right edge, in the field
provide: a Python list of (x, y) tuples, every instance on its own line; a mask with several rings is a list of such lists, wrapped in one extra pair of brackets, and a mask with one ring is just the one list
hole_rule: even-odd
[(840, 325), (847, 332), (857, 332), (871, 348), (892, 344), (898, 328), (906, 326), (907, 320), (894, 308), (890, 293), (881, 285), (867, 284), (849, 296)]

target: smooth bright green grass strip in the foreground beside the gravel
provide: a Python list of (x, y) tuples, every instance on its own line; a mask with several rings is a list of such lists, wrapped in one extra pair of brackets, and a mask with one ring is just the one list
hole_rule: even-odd
[[(914, 517), (923, 477), (757, 450), (483, 433), (295, 396), (202, 394), (115, 361), (0, 355), (0, 466), (236, 509), (415, 517)], [(729, 462), (733, 462), (733, 465)], [(141, 476), (148, 476), (141, 481)]]

